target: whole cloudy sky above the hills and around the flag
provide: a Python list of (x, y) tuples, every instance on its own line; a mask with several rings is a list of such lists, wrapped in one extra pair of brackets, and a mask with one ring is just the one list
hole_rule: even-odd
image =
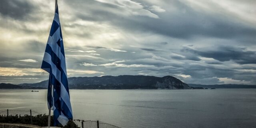
[[(256, 84), (255, 0), (58, 0), (68, 77)], [(55, 0), (0, 0), (0, 83), (40, 69)]]

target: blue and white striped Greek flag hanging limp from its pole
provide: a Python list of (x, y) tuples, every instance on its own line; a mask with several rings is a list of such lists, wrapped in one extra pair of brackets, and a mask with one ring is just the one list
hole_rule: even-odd
[(55, 10), (41, 68), (50, 74), (47, 100), (48, 108), (53, 110), (54, 126), (58, 124), (65, 126), (73, 116), (58, 6)]

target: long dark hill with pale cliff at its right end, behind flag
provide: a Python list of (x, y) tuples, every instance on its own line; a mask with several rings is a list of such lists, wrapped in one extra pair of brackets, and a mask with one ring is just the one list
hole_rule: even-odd
[[(70, 77), (68, 78), (70, 89), (191, 89), (173, 76), (101, 76), (101, 77)], [(19, 84), (47, 88), (48, 80), (35, 84)]]

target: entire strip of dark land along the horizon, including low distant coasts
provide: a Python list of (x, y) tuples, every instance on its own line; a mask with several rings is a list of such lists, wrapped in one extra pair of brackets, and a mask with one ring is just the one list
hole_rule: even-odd
[[(70, 77), (70, 89), (198, 89), (198, 88), (256, 88), (256, 85), (240, 84), (186, 84), (173, 76), (101, 76)], [(0, 84), (0, 89), (46, 89), (48, 80), (33, 84)]]

